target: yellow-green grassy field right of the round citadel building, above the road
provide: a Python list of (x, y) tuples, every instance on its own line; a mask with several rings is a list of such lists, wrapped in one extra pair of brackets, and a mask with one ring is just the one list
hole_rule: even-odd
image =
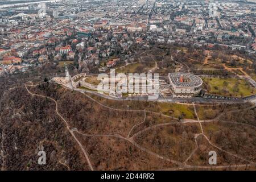
[(245, 97), (255, 94), (256, 90), (249, 82), (239, 78), (203, 78), (208, 92), (221, 96)]

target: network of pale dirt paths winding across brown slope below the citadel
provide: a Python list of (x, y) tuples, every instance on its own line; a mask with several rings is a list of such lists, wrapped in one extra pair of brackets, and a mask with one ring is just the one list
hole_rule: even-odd
[[(88, 162), (89, 167), (90, 167), (91, 170), (93, 170), (93, 167), (92, 167), (92, 164), (90, 163), (89, 156), (88, 156), (88, 154), (86, 153), (86, 151), (84, 150), (84, 147), (82, 146), (82, 144), (81, 144), (81, 143), (79, 142), (79, 140), (76, 138), (75, 134), (73, 134), (73, 132), (77, 132), (77, 133), (79, 133), (79, 134), (81, 134), (81, 135), (84, 135), (85, 137), (114, 137), (114, 138), (119, 138), (119, 139), (126, 140), (127, 142), (130, 142), (131, 144), (133, 144), (135, 147), (139, 148), (140, 150), (142, 150), (142, 151), (144, 151), (144, 152), (147, 152), (147, 154), (150, 154), (150, 155), (153, 155), (153, 156), (155, 156), (155, 157), (157, 157), (157, 158), (159, 158), (159, 159), (167, 160), (168, 162), (177, 164), (179, 167), (178, 167), (178, 168), (175, 168), (175, 169), (182, 169), (182, 168), (225, 168), (225, 167), (230, 167), (230, 166), (214, 166), (214, 167), (209, 167), (209, 166), (190, 166), (190, 165), (187, 164), (187, 161), (188, 161), (189, 159), (191, 159), (191, 157), (193, 156), (193, 154), (195, 154), (196, 150), (198, 149), (198, 144), (197, 144), (196, 138), (197, 138), (199, 135), (203, 135), (203, 136), (207, 139), (208, 143), (209, 143), (211, 146), (213, 146), (213, 147), (215, 147), (215, 148), (218, 148), (218, 150), (224, 151), (224, 152), (226, 152), (227, 154), (232, 155), (232, 156), (234, 156), (234, 157), (236, 157), (236, 158), (242, 159), (242, 160), (244, 160), (244, 161), (246, 161), (246, 162), (248, 162), (248, 163), (250, 163), (250, 164), (255, 164), (254, 162), (252, 162), (252, 161), (250, 161), (250, 160), (244, 159), (244, 158), (242, 158), (242, 157), (240, 157), (240, 156), (238, 156), (238, 155), (232, 154), (231, 152), (225, 151), (225, 150), (223, 150), (222, 148), (220, 148), (220, 147), (216, 146), (215, 144), (213, 144), (212, 142), (210, 142), (210, 140), (208, 139), (208, 137), (207, 137), (207, 136), (204, 134), (204, 132), (203, 132), (203, 127), (202, 127), (202, 125), (201, 125), (201, 122), (219, 121), (218, 118), (220, 118), (220, 117), (217, 117), (217, 119), (209, 119), (209, 120), (200, 121), (200, 119), (199, 119), (199, 117), (198, 117), (198, 115), (197, 115), (197, 113), (196, 113), (195, 104), (193, 104), (193, 107), (194, 107), (194, 109), (195, 109), (195, 113), (196, 113), (196, 116), (197, 116), (197, 120), (193, 120), (193, 119), (189, 119), (189, 120), (187, 119), (187, 120), (186, 120), (186, 119), (185, 119), (185, 120), (180, 121), (180, 122), (169, 122), (169, 123), (160, 123), (160, 124), (156, 124), (156, 125), (147, 127), (146, 129), (143, 129), (143, 130), (141, 130), (141, 131), (138, 131), (137, 133), (133, 134), (132, 137), (130, 137), (131, 131), (133, 131), (134, 127), (136, 127), (136, 126), (138, 126), (138, 125), (141, 125), (143, 122), (146, 121), (146, 113), (155, 113), (155, 114), (160, 114), (160, 113), (157, 113), (157, 112), (155, 112), (155, 111), (147, 111), (146, 109), (144, 109), (144, 110), (115, 109), (115, 108), (113, 108), (113, 107), (109, 107), (109, 106), (107, 106), (107, 105), (102, 104), (101, 102), (95, 100), (94, 98), (92, 98), (92, 97), (90, 97), (90, 96), (88, 96), (87, 94), (84, 93), (84, 95), (85, 95), (86, 97), (88, 97), (90, 100), (96, 102), (97, 104), (99, 104), (99, 105), (101, 105), (101, 106), (103, 106), (103, 107), (106, 107), (106, 108), (108, 108), (108, 109), (111, 109), (111, 110), (119, 110), (119, 111), (137, 111), (137, 112), (138, 112), (138, 111), (141, 111), (141, 112), (143, 111), (143, 112), (144, 112), (144, 120), (143, 120), (142, 122), (140, 122), (140, 123), (135, 124), (135, 125), (131, 128), (131, 130), (130, 130), (130, 132), (129, 132), (129, 134), (128, 134), (127, 137), (122, 137), (121, 135), (118, 135), (118, 134), (84, 134), (84, 133), (81, 133), (80, 131), (77, 131), (77, 129), (70, 129), (70, 128), (69, 128), (68, 122), (61, 116), (61, 114), (59, 113), (59, 111), (58, 111), (58, 109), (57, 109), (57, 108), (58, 108), (57, 101), (55, 101), (55, 100), (54, 100), (53, 98), (51, 98), (51, 97), (42, 96), (42, 95), (40, 95), (40, 94), (34, 94), (34, 93), (30, 92), (30, 90), (28, 90), (27, 86), (33, 86), (33, 85), (25, 85), (25, 86), (26, 86), (27, 92), (30, 93), (32, 96), (39, 96), (39, 97), (49, 98), (50, 100), (52, 100), (52, 101), (55, 102), (57, 115), (59, 115), (59, 117), (64, 121), (64, 123), (65, 123), (65, 125), (66, 125), (66, 127), (67, 127), (67, 129), (68, 129), (68, 131), (69, 131), (69, 133), (71, 133), (72, 137), (76, 140), (77, 144), (79, 144), (79, 146), (80, 146), (82, 152), (84, 153), (85, 158), (86, 158), (86, 160), (87, 160), (87, 162)], [(163, 115), (163, 114), (162, 114), (162, 115)], [(170, 117), (170, 116), (168, 116), (168, 115), (164, 115), (164, 117), (168, 117), (168, 118), (172, 118), (172, 119), (177, 119), (177, 118)], [(165, 157), (165, 156), (161, 156), (161, 155), (159, 155), (159, 154), (156, 154), (155, 152), (152, 152), (152, 151), (148, 150), (147, 148), (140, 146), (138, 143), (136, 143), (136, 142), (134, 141), (134, 138), (137, 137), (139, 134), (141, 134), (141, 133), (143, 133), (143, 132), (145, 132), (145, 131), (147, 131), (147, 130), (150, 130), (150, 129), (152, 129), (152, 128), (160, 127), (160, 126), (167, 126), (167, 125), (181, 124), (181, 123), (200, 123), (201, 131), (202, 131), (202, 133), (200, 133), (200, 134), (195, 134), (196, 148), (191, 152), (191, 154), (188, 156), (188, 158), (187, 158), (183, 163), (178, 162), (178, 161), (176, 161), (176, 160), (172, 160), (172, 159), (167, 158), (167, 157)], [(230, 122), (230, 123), (236, 123), (236, 122)], [(247, 125), (246, 123), (237, 123), (237, 124), (244, 124), (244, 125)], [(249, 125), (249, 126), (251, 126), (251, 125)], [(254, 126), (253, 126), (253, 127), (254, 127)], [(250, 164), (248, 164), (248, 165), (246, 164), (246, 166), (250, 166)], [(245, 167), (245, 165), (243, 165), (243, 164), (242, 164), (242, 165), (237, 165), (237, 166), (238, 166), (238, 167)]]

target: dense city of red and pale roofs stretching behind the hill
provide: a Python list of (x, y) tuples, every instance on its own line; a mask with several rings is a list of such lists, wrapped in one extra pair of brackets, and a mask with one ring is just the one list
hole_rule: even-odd
[(74, 60), (84, 48), (83, 61), (101, 71), (102, 58), (151, 41), (256, 50), (255, 4), (245, 1), (56, 0), (2, 7), (0, 15), (2, 75)]

